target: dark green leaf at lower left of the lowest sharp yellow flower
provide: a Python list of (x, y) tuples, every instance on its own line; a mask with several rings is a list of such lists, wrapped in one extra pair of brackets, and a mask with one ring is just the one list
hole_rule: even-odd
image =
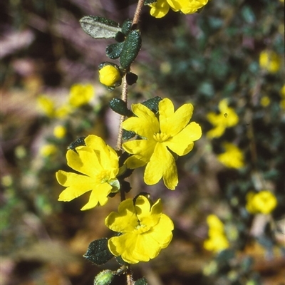
[(96, 239), (88, 246), (86, 254), (83, 255), (93, 264), (102, 265), (109, 261), (113, 256), (108, 249), (108, 239)]

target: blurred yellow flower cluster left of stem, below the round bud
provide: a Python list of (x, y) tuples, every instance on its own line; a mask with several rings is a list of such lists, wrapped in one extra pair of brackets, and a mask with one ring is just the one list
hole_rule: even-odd
[(38, 105), (49, 118), (64, 118), (73, 112), (74, 108), (90, 102), (94, 96), (94, 87), (91, 84), (74, 84), (71, 86), (67, 103), (57, 105), (46, 95), (38, 96)]

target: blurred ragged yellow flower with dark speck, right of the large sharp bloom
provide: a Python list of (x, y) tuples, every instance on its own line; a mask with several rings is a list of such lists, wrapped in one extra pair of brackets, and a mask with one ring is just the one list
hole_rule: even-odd
[(223, 99), (219, 102), (219, 111), (219, 114), (214, 112), (207, 114), (209, 123), (214, 125), (214, 128), (207, 133), (208, 138), (219, 138), (224, 134), (226, 128), (233, 127), (239, 123), (239, 117), (233, 108), (229, 108), (227, 99)]

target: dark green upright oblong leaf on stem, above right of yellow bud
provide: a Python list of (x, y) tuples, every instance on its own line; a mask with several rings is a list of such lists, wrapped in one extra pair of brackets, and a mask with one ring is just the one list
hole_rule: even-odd
[(120, 53), (120, 65), (123, 68), (128, 68), (135, 60), (141, 46), (142, 39), (140, 38), (140, 31), (130, 31), (128, 36), (125, 38), (123, 51)]

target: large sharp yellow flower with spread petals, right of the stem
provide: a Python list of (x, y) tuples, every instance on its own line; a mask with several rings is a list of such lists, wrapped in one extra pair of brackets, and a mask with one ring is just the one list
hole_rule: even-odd
[(147, 185), (156, 184), (161, 178), (165, 186), (174, 190), (177, 183), (177, 167), (175, 157), (187, 155), (194, 146), (194, 141), (202, 135), (201, 127), (190, 123), (193, 105), (188, 103), (174, 110), (170, 99), (163, 99), (159, 103), (158, 118), (149, 108), (142, 104), (132, 105), (136, 117), (123, 122), (125, 130), (132, 130), (143, 140), (131, 140), (123, 143), (123, 149), (132, 154), (125, 164), (134, 169), (145, 167), (144, 180)]

